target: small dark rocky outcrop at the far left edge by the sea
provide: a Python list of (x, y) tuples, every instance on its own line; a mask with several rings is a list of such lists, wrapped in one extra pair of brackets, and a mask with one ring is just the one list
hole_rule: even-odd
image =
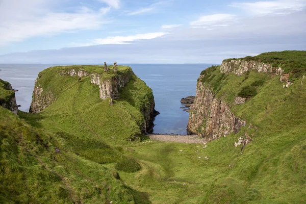
[(0, 89), (4, 89), (3, 93), (5, 95), (0, 96), (0, 106), (3, 108), (9, 109), (14, 114), (18, 113), (18, 107), (16, 103), (16, 97), (15, 92), (12, 88), (12, 85), (6, 81), (3, 81), (0, 79), (0, 84), (3, 85), (3, 87), (0, 87)]

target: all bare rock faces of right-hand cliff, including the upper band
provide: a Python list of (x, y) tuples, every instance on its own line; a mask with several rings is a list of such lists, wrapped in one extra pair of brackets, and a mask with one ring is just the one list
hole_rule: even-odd
[[(224, 60), (219, 69), (221, 73), (234, 73), (238, 76), (250, 70), (281, 75), (280, 81), (288, 84), (288, 74), (284, 74), (281, 67), (273, 67), (260, 61)], [(222, 97), (216, 97), (212, 89), (201, 82), (202, 77), (198, 80), (196, 98), (191, 106), (188, 134), (198, 134), (207, 137), (208, 140), (214, 140), (232, 132), (237, 133), (241, 126), (246, 125), (246, 121), (237, 118), (226, 101)], [(236, 97), (235, 104), (243, 104), (244, 101), (245, 98)]]

